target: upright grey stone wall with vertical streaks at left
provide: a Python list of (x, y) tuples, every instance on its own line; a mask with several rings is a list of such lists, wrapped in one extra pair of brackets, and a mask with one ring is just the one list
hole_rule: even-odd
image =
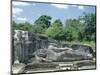
[(28, 63), (32, 54), (37, 49), (48, 47), (48, 38), (22, 30), (14, 30), (12, 38), (12, 61)]

